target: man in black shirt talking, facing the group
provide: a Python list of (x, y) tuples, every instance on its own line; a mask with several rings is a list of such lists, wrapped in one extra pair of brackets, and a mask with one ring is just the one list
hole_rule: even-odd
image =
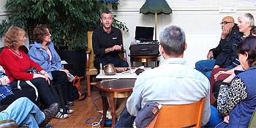
[(92, 34), (92, 47), (94, 48), (94, 67), (99, 64), (114, 64), (115, 67), (129, 67), (127, 61), (120, 59), (118, 52), (123, 48), (121, 31), (112, 26), (113, 14), (110, 11), (102, 12), (100, 17), (102, 26)]

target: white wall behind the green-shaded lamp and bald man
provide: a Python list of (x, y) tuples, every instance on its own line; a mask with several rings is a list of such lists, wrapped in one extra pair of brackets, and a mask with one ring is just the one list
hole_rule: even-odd
[[(188, 49), (184, 58), (195, 67), (195, 62), (206, 59), (208, 50), (219, 43), (221, 26), (219, 23), (226, 15), (236, 19), (244, 12), (256, 18), (255, 0), (166, 0), (173, 13), (157, 16), (157, 39), (159, 31), (165, 26), (176, 25), (184, 29)], [(129, 53), (129, 44), (135, 38), (135, 26), (154, 26), (154, 15), (140, 14), (145, 0), (121, 0), (118, 11), (113, 12), (116, 19), (127, 24), (129, 32), (124, 32), (124, 48)], [(219, 8), (233, 8), (236, 12), (220, 13)], [(129, 60), (129, 59), (128, 59)]]

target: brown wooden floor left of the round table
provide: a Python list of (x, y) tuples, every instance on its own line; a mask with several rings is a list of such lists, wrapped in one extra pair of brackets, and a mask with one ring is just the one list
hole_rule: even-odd
[[(82, 86), (82, 84), (80, 85)], [(84, 86), (84, 84), (83, 84)], [(95, 88), (95, 87), (94, 87)], [(95, 90), (95, 89), (94, 89)], [(82, 91), (85, 89), (82, 87)], [(86, 124), (86, 120), (89, 118), (100, 118), (102, 114), (98, 113), (97, 108), (93, 104), (93, 101), (97, 99), (94, 103), (97, 105), (99, 110), (102, 110), (102, 99), (100, 99), (99, 91), (92, 91), (92, 97), (86, 97), (86, 99), (75, 102), (75, 105), (71, 106), (75, 113), (69, 115), (67, 119), (56, 119), (53, 118), (50, 124), (56, 128), (63, 127), (91, 127), (91, 125)], [(91, 120), (89, 122), (99, 121), (99, 119)]]

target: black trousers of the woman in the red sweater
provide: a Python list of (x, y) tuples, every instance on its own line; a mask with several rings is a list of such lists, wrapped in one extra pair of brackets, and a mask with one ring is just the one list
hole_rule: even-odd
[[(49, 108), (51, 104), (54, 102), (58, 102), (57, 98), (53, 96), (52, 91), (50, 90), (50, 86), (48, 85), (48, 82), (44, 78), (34, 78), (33, 80), (30, 80), (31, 83), (37, 88), (38, 95), (41, 99), (41, 102), (46, 106), (46, 108)], [(15, 80), (14, 82), (10, 83), (12, 86), (12, 89), (18, 89), (18, 81)], [(26, 81), (20, 80), (20, 87), (21, 89), (29, 86)]]

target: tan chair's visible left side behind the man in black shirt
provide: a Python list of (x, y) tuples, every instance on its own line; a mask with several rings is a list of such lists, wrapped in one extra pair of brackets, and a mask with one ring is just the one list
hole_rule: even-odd
[(92, 48), (92, 33), (94, 31), (87, 31), (87, 50), (91, 50), (89, 55), (89, 69), (96, 69), (94, 67), (94, 49)]

